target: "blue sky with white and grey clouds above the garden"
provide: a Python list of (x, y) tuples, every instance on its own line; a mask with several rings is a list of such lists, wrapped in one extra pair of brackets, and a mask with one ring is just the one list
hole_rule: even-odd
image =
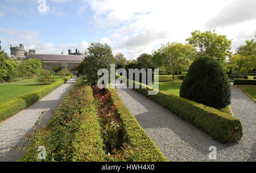
[(255, 9), (255, 0), (1, 0), (0, 40), (9, 54), (10, 44), (68, 54), (107, 43), (132, 60), (161, 44), (185, 44), (196, 29), (216, 29), (235, 50), (255, 37)]

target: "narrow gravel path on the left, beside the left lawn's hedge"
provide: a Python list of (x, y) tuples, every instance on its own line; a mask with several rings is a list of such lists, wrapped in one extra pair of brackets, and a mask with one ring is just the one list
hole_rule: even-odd
[(11, 147), (22, 146), (22, 137), (34, 130), (34, 125), (41, 112), (47, 111), (40, 119), (42, 123), (46, 123), (51, 119), (53, 110), (56, 111), (57, 106), (63, 101), (64, 96), (69, 93), (76, 81), (76, 77), (69, 79), (69, 81), (59, 88), (56, 88), (56, 90), (38, 100), (38, 102), (0, 123), (1, 162), (18, 161), (22, 157), (22, 150), (14, 150)]

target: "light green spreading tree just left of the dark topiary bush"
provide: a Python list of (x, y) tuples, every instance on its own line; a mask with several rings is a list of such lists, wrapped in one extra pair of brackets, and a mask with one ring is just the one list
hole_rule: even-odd
[(188, 64), (193, 58), (193, 47), (191, 45), (183, 45), (182, 43), (168, 43), (162, 45), (163, 66), (167, 72), (172, 73), (175, 77), (175, 71), (182, 65)]

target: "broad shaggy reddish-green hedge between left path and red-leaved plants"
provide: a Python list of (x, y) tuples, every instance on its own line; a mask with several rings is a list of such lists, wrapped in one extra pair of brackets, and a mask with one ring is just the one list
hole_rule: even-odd
[(25, 151), (20, 161), (40, 161), (38, 147), (46, 147), (46, 160), (64, 162), (107, 161), (92, 88), (75, 85), (51, 120)]

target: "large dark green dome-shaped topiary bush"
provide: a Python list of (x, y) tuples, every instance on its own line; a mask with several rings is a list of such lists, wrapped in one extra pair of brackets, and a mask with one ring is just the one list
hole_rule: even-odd
[(180, 87), (180, 97), (213, 108), (230, 104), (231, 86), (222, 65), (211, 57), (197, 57)]

